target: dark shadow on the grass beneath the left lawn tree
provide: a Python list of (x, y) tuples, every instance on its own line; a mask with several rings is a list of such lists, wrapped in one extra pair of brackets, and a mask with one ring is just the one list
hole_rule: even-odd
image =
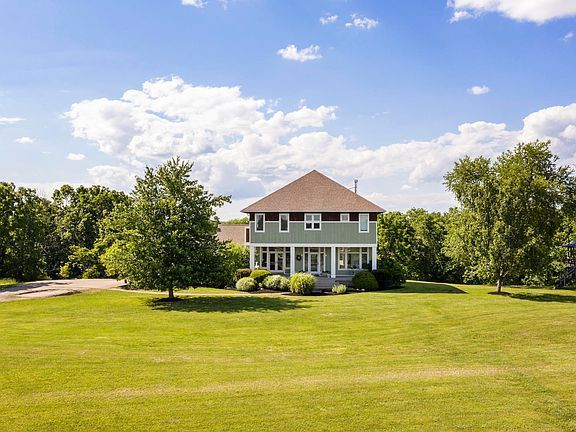
[(202, 296), (179, 297), (176, 301), (165, 298), (146, 300), (146, 305), (154, 310), (165, 312), (267, 312), (287, 311), (307, 308), (302, 300), (288, 300), (282, 297), (252, 296)]

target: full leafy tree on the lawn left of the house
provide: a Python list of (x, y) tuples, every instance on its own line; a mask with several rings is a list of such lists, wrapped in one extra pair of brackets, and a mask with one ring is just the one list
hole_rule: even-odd
[(193, 164), (172, 159), (146, 168), (136, 179), (132, 203), (108, 223), (111, 248), (102, 261), (139, 288), (168, 291), (211, 282), (221, 268), (214, 208), (229, 197), (213, 196), (190, 178)]

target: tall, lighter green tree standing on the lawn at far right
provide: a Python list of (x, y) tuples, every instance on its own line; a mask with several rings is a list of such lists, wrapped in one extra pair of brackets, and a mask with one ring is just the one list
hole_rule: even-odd
[(518, 144), (492, 163), (466, 157), (446, 174), (460, 206), (453, 211), (446, 253), (468, 276), (496, 283), (542, 272), (550, 263), (562, 207), (574, 189), (550, 142)]

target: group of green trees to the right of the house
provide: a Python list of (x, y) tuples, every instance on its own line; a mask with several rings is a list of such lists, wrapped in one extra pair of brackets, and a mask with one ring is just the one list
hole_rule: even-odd
[(465, 157), (446, 174), (458, 206), (379, 219), (379, 261), (417, 280), (550, 285), (576, 240), (574, 172), (550, 142), (518, 144), (495, 161)]

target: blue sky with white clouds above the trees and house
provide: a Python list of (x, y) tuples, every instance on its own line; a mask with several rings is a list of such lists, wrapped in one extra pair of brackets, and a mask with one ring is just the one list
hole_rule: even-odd
[(386, 210), (551, 140), (576, 163), (576, 0), (0, 0), (0, 181), (129, 191), (181, 156), (221, 218), (316, 169)]

